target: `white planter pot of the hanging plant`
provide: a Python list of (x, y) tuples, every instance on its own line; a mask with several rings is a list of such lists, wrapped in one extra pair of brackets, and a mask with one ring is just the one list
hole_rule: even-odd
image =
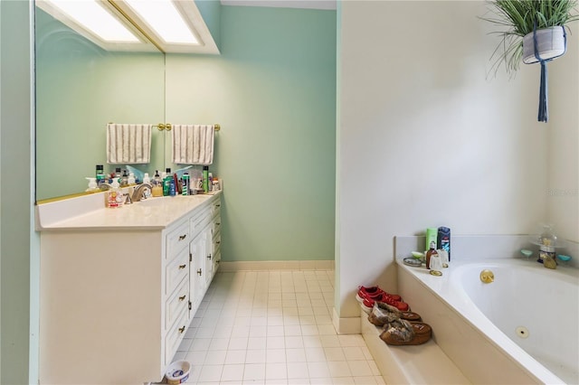
[[(565, 53), (565, 29), (561, 26), (536, 31), (536, 49), (543, 60), (553, 59)], [(523, 62), (536, 63), (533, 33), (523, 37)]]

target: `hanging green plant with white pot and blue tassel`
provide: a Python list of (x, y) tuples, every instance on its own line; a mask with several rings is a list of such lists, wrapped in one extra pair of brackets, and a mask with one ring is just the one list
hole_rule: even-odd
[(496, 32), (501, 42), (492, 54), (491, 70), (495, 73), (504, 64), (509, 75), (522, 62), (541, 64), (538, 120), (546, 122), (547, 72), (546, 63), (563, 55), (566, 50), (567, 23), (579, 19), (577, 0), (492, 0), (491, 17), (482, 17), (503, 27)]

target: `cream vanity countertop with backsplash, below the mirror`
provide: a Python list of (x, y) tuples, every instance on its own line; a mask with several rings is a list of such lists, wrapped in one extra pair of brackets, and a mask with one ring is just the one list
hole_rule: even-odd
[(149, 198), (118, 209), (104, 207), (102, 193), (36, 206), (36, 230), (162, 230), (219, 192)]

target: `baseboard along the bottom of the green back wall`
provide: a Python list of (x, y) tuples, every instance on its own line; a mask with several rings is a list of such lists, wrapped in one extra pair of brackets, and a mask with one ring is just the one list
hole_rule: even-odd
[(334, 260), (239, 260), (221, 261), (219, 270), (267, 271), (267, 270), (333, 270)]

